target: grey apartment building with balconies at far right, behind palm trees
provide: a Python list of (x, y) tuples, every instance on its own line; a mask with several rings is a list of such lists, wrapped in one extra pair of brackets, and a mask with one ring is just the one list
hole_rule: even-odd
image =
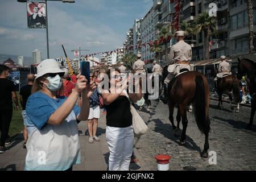
[[(217, 5), (216, 37), (210, 36), (213, 45), (210, 48), (210, 59), (221, 55), (234, 56), (249, 53), (248, 15), (246, 0), (183, 0), (181, 21), (193, 22), (202, 11), (209, 11), (209, 4)], [(256, 1), (254, 3), (254, 24), (256, 24)], [(256, 27), (254, 27), (256, 32)], [(204, 59), (204, 33), (190, 36), (193, 42), (192, 60)]]

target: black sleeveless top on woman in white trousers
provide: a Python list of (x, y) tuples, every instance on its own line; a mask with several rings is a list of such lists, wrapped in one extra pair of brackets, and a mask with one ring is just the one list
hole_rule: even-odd
[(119, 96), (110, 105), (104, 105), (106, 125), (110, 127), (129, 127), (133, 124), (133, 115), (130, 110), (130, 101), (126, 96)]

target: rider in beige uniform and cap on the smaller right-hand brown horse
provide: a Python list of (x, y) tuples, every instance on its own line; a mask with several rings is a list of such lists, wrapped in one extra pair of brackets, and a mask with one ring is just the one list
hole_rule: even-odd
[(222, 78), (224, 75), (232, 75), (230, 73), (231, 67), (230, 64), (226, 61), (226, 56), (221, 56), (221, 63), (218, 65), (218, 74), (214, 78), (214, 86), (217, 89), (217, 81), (219, 78)]

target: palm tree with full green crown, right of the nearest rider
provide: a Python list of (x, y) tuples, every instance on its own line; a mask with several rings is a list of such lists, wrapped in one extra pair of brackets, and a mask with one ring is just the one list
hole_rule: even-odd
[(204, 31), (204, 59), (209, 60), (209, 36), (210, 31), (216, 34), (216, 19), (213, 16), (209, 16), (207, 11), (199, 14), (198, 18), (195, 20), (195, 26), (193, 31), (195, 34), (199, 34), (201, 31)]

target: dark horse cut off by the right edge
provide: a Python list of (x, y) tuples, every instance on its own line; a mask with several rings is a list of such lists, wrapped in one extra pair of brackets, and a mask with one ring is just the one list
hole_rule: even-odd
[(246, 126), (246, 130), (251, 130), (253, 126), (253, 118), (256, 110), (256, 63), (250, 59), (239, 59), (237, 65), (237, 78), (242, 79), (243, 76), (247, 75), (250, 80), (249, 92), (251, 96), (251, 115), (250, 122)]

